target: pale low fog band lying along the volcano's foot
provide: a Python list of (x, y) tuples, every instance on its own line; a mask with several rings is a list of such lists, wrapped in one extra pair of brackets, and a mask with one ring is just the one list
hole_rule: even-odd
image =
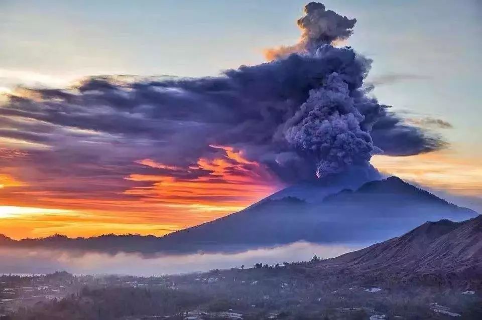
[(248, 268), (257, 262), (271, 265), (283, 261), (310, 260), (314, 255), (330, 258), (359, 248), (361, 246), (296, 242), (241, 253), (159, 254), (148, 257), (136, 253), (109, 255), (99, 252), (0, 248), (0, 274), (38, 274), (65, 270), (73, 274), (115, 273), (149, 276), (227, 269), (241, 265)]

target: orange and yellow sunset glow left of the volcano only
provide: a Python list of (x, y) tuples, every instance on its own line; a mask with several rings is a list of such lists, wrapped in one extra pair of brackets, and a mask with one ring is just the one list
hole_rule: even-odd
[[(228, 146), (212, 147), (223, 155), (198, 159), (189, 168), (163, 165), (148, 158), (135, 161), (139, 169), (148, 168), (152, 173), (119, 177), (119, 184), (134, 184), (117, 193), (75, 195), (68, 190), (55, 191), (56, 184), (40, 188), (35, 182), (27, 185), (11, 174), (0, 175), (0, 199), (5, 204), (0, 207), (0, 228), (15, 239), (52, 234), (160, 236), (242, 210), (283, 186), (262, 166), (247, 161), (242, 152)], [(12, 149), (4, 149), (3, 154), (9, 159), (27, 156)], [(4, 170), (15, 172), (16, 168)], [(165, 173), (156, 174), (156, 170)], [(171, 176), (199, 170), (209, 174), (192, 179)], [(58, 183), (63, 181), (68, 178)]]

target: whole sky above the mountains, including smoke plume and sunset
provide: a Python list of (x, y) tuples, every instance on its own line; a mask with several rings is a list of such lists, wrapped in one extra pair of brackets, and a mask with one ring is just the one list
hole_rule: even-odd
[(400, 6), (14, 3), (0, 5), (0, 234), (161, 236), (369, 163), (482, 199), (479, 19), (447, 28), (461, 19), (440, 6), (450, 24), (394, 37), (378, 20), (405, 26)]

